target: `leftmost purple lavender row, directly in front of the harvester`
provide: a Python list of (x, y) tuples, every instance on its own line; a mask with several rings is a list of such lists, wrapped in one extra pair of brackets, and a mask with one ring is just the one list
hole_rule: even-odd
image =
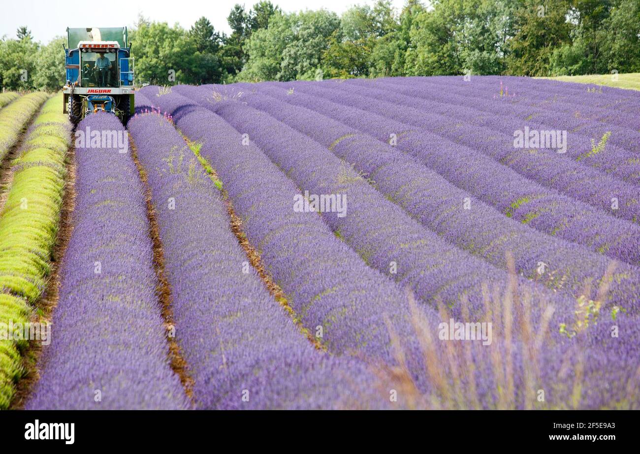
[[(77, 131), (87, 128), (87, 140), (102, 131), (127, 139), (114, 115), (95, 113)], [(168, 363), (142, 184), (127, 153), (99, 142), (76, 141), (75, 227), (26, 408), (186, 409)]]

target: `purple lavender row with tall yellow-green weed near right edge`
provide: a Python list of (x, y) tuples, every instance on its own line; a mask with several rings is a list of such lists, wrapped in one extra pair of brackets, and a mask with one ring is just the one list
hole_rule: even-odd
[[(604, 126), (582, 116), (577, 118), (573, 114), (559, 115), (555, 112), (550, 117), (546, 111), (533, 110), (531, 107), (523, 108), (520, 104), (500, 99), (474, 98), (473, 89), (460, 93), (461, 89), (456, 88), (457, 92), (451, 93), (447, 90), (438, 90), (440, 86), (437, 84), (405, 85), (401, 81), (389, 83), (375, 81), (367, 84), (355, 81), (353, 84), (360, 85), (362, 88), (380, 88), (387, 94), (400, 93), (422, 99), (428, 102), (429, 112), (439, 115), (454, 113), (456, 118), (467, 120), (470, 124), (496, 129), (508, 134), (511, 138), (515, 131), (522, 131), (524, 127), (536, 131), (567, 131), (567, 147), (564, 153), (558, 154), (556, 149), (540, 149), (540, 152), (550, 153), (557, 158), (573, 158), (581, 165), (591, 166), (622, 181), (631, 184), (640, 183), (640, 161), (637, 159), (637, 150), (633, 150), (640, 142), (640, 133), (637, 131), (629, 129), (614, 131), (616, 128)], [(399, 102), (402, 103), (402, 100)], [(452, 106), (455, 106), (455, 109), (452, 109)], [(588, 135), (573, 131), (586, 131)], [(606, 137), (604, 147), (596, 148), (594, 152), (594, 145), (599, 145), (603, 137)]]

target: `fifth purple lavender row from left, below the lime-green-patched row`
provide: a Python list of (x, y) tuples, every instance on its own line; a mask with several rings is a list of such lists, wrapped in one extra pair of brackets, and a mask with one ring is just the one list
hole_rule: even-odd
[[(250, 89), (250, 86), (239, 86)], [(191, 93), (193, 99), (202, 99), (204, 106), (212, 101), (212, 90), (211, 86), (179, 88), (180, 93)], [(543, 280), (547, 286), (566, 289), (575, 297), (582, 295), (585, 282), (595, 282), (597, 287), (605, 275), (607, 257), (506, 218), (394, 147), (310, 109), (248, 90), (244, 93), (248, 94), (241, 99), (248, 105), (269, 113), (332, 150), (354, 165), (357, 172), (369, 175), (379, 191), (426, 227), (489, 263), (506, 269), (505, 254), (512, 252), (519, 273)], [(470, 209), (465, 209), (465, 200)], [(540, 261), (548, 265), (543, 275), (538, 270)], [(607, 295), (609, 301), (621, 307), (634, 307), (640, 294), (640, 271), (620, 263), (616, 272), (619, 277), (612, 282)]]

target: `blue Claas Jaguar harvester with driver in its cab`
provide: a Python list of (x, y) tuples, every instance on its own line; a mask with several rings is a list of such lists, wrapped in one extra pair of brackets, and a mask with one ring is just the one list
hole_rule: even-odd
[(123, 124), (134, 111), (134, 68), (127, 28), (67, 28), (63, 112), (77, 124), (97, 111)]

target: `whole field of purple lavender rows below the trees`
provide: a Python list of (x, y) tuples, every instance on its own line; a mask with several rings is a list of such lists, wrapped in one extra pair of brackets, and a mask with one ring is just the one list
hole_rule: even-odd
[[(126, 129), (89, 115), (74, 143), (45, 104), (34, 131), (60, 137), (22, 144), (0, 322), (51, 334), (1, 341), (0, 408), (640, 407), (640, 92), (441, 76), (135, 99)], [(32, 167), (57, 172), (42, 225), (15, 209)]]

